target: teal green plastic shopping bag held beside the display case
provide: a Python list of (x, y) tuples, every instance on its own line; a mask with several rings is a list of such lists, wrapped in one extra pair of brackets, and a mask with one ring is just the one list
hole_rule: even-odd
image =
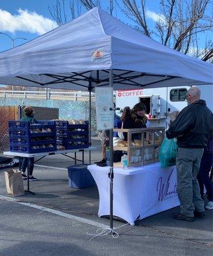
[(177, 140), (175, 138), (168, 140), (165, 137), (159, 150), (159, 161), (161, 163), (161, 167), (168, 167), (168, 166), (175, 165), (176, 156), (177, 156)]

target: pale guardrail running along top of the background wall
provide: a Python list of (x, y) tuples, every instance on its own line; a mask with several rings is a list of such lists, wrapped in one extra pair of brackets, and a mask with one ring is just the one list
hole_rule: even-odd
[[(91, 93), (94, 97), (94, 93)], [(89, 92), (0, 91), (3, 98), (89, 100)]]

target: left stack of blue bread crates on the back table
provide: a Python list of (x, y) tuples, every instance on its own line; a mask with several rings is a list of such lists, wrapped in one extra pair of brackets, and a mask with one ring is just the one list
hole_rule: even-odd
[(38, 121), (36, 124), (10, 121), (8, 125), (10, 151), (34, 154), (56, 150), (54, 121)]

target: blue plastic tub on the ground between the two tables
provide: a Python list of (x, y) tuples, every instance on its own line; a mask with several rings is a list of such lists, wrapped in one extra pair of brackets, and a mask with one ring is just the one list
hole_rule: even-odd
[(68, 166), (68, 179), (70, 188), (88, 188), (95, 184), (86, 164)]

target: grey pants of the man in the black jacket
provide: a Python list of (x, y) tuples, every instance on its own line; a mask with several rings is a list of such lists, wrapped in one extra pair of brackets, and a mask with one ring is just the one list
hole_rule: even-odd
[(193, 217), (194, 211), (203, 212), (204, 202), (196, 176), (200, 170), (203, 148), (178, 148), (177, 193), (180, 200), (180, 213)]

